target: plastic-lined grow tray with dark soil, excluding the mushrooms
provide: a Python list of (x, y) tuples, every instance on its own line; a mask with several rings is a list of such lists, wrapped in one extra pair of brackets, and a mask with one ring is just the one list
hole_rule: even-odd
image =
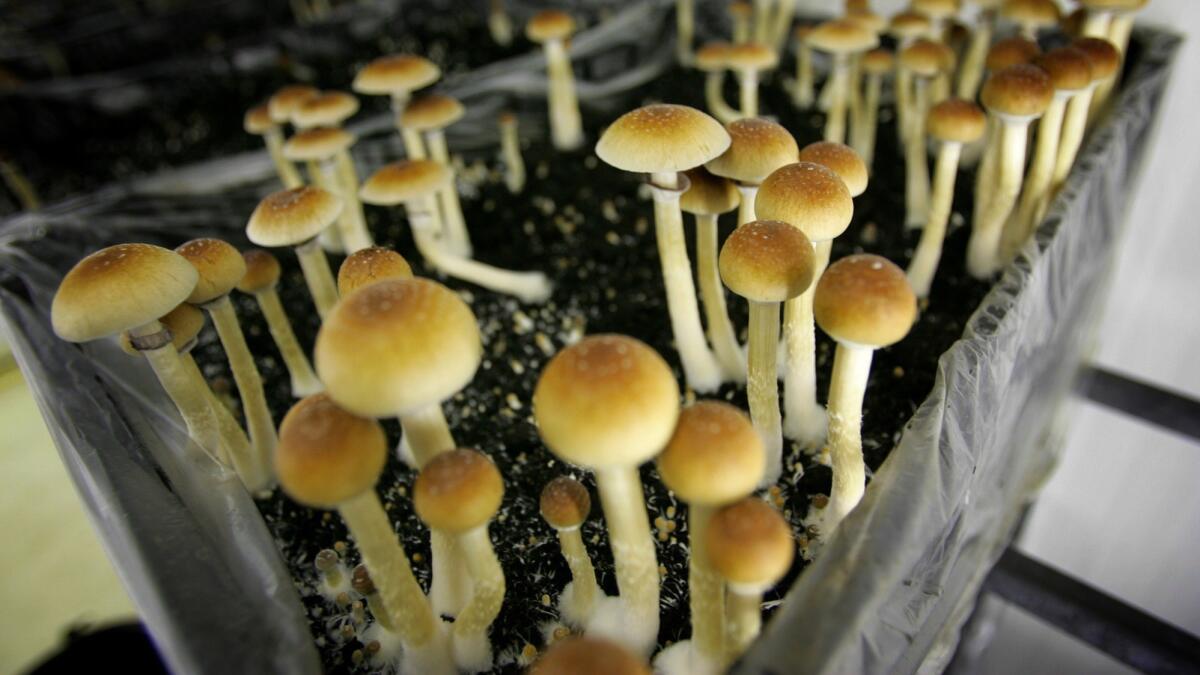
[[(647, 101), (703, 107), (701, 76), (673, 66), (670, 43), (644, 40), (668, 29), (668, 5), (624, 10), (575, 38), (593, 142), (604, 124)], [(1177, 42), (1135, 34), (1114, 114), (1092, 135), (1046, 221), (998, 282), (962, 273), (968, 233), (952, 228), (920, 321), (874, 364), (863, 429), (876, 474), (866, 498), (814, 565), (799, 574), (804, 563), (798, 562), (768, 596), (787, 598), (768, 603), (774, 616), (736, 669), (790, 671), (803, 664), (805, 671), (902, 673), (948, 658), (1018, 507), (1052, 464), (1037, 436), (1086, 344), (1122, 204)], [(492, 633), (502, 671), (517, 668), (527, 645), (544, 644), (540, 626), (554, 617), (546, 599), (569, 580), (536, 498), (550, 478), (578, 472), (545, 449), (532, 424), (532, 388), (541, 368), (583, 334), (613, 331), (647, 341), (680, 375), (650, 204), (638, 197), (635, 177), (599, 162), (589, 150), (550, 149), (539, 66), (538, 54), (516, 56), (451, 74), (439, 88), (469, 110), (450, 129), (450, 143), (466, 161), (463, 207), (479, 257), (511, 269), (541, 269), (557, 285), (548, 303), (521, 305), (446, 281), (469, 301), (485, 344), (479, 374), (445, 405), (446, 417), (458, 443), (490, 454), (506, 484), (491, 527), (508, 575)], [(348, 80), (342, 71), (319, 83)], [(270, 91), (264, 86), (254, 96)], [(796, 112), (778, 82), (764, 84), (762, 101), (764, 113), (778, 117), (802, 145), (820, 138), (820, 115)], [(518, 112), (527, 141), (529, 184), (517, 197), (506, 192), (493, 157), (502, 107)], [(223, 106), (214, 108), (229, 117)], [(872, 186), (856, 203), (834, 258), (869, 251), (902, 264), (916, 245), (918, 233), (901, 223), (895, 130), (889, 115), (883, 119)], [(364, 115), (352, 130), (361, 138), (354, 148), (361, 174), (400, 156), (386, 114)], [(66, 270), (101, 246), (131, 240), (175, 246), (215, 235), (247, 247), (246, 219), (262, 196), (277, 189), (270, 171), (257, 151), (212, 160), (108, 185), (0, 228), (0, 307), (13, 351), (144, 621), (170, 665), (182, 671), (353, 670), (361, 644), (340, 640), (348, 613), (317, 596), (312, 567), (319, 549), (347, 540), (346, 530), (337, 518), (299, 507), (278, 491), (256, 503), (230, 473), (203, 456), (181, 455), (186, 434), (145, 364), (112, 344), (77, 347), (58, 340), (49, 304)], [(956, 213), (970, 213), (972, 178), (970, 172), (960, 177)], [(430, 274), (398, 210), (368, 208), (367, 217), (378, 243)], [(295, 261), (281, 252), (281, 262), (283, 301), (301, 342), (311, 347), (316, 312)], [(235, 295), (235, 301), (278, 422), (292, 404), (287, 372), (253, 300)], [(744, 304), (731, 297), (730, 306), (734, 324), (745, 325)], [(823, 335), (818, 340), (823, 399), (832, 344)], [(215, 388), (236, 394), (211, 331), (202, 334), (196, 356)], [(713, 398), (745, 407), (744, 392), (733, 387)], [(390, 422), (385, 428), (395, 442), (397, 428)], [(784, 476), (773, 498), (802, 532), (811, 497), (829, 489), (829, 472), (793, 450)], [(414, 561), (422, 558), (414, 568), (427, 583), (427, 534), (407, 497), (413, 478), (391, 459), (378, 490), (406, 549)], [(667, 569), (659, 635), (665, 645), (688, 634), (686, 519), (653, 467), (643, 468), (643, 482), (650, 519), (665, 533), (658, 542)], [(584, 526), (584, 539), (601, 586), (614, 592), (598, 513)], [(353, 563), (353, 546), (348, 550)]]

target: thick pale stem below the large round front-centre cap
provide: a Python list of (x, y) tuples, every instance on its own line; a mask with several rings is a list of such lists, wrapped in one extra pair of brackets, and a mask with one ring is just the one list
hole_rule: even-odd
[(659, 563), (642, 479), (636, 466), (598, 468), (595, 474), (625, 609), (624, 633), (613, 638), (648, 655), (659, 635)]

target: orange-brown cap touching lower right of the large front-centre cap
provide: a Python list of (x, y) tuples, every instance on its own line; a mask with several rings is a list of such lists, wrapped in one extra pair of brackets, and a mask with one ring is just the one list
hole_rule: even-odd
[(698, 401), (679, 413), (658, 465), (662, 482), (680, 500), (716, 506), (754, 491), (767, 454), (746, 413), (726, 402)]

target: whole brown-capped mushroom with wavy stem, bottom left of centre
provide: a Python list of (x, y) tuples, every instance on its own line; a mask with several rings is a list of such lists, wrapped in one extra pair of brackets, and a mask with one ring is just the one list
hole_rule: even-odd
[(504, 482), (486, 455), (469, 449), (438, 454), (421, 468), (413, 485), (416, 515), (455, 539), (467, 560), (474, 586), (451, 633), (455, 664), (467, 673), (492, 669), (487, 629), (504, 602), (504, 572), (496, 558), (487, 521), (500, 508)]

